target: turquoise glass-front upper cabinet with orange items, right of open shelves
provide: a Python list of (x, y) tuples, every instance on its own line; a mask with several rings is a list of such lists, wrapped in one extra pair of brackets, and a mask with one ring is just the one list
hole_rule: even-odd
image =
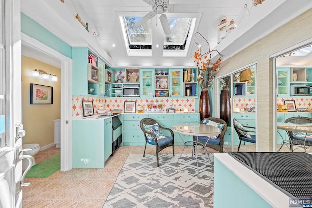
[(183, 69), (169, 69), (171, 97), (183, 96)]

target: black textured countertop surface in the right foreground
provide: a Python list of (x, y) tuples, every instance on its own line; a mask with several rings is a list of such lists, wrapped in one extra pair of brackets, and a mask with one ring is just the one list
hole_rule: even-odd
[(301, 152), (230, 152), (289, 197), (312, 200), (312, 155)]

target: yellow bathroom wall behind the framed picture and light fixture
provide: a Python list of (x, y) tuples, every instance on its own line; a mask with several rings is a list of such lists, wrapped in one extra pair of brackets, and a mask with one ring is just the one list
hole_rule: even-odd
[[(58, 82), (43, 81), (31, 72), (41, 69), (58, 76)], [(30, 104), (30, 83), (53, 87), (53, 104)], [(60, 118), (60, 69), (36, 59), (22, 56), (22, 122), (26, 130), (23, 144), (40, 147), (54, 143), (54, 121)]]

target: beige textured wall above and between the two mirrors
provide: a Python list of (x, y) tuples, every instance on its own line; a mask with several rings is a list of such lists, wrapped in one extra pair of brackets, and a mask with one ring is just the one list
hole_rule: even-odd
[[(273, 151), (272, 60), (269, 56), (312, 38), (312, 9), (225, 60), (218, 75), (257, 62), (258, 151)], [(222, 65), (220, 65), (222, 67)], [(218, 96), (215, 92), (215, 97)], [(215, 106), (217, 103), (215, 103)], [(275, 121), (274, 121), (275, 122)]]

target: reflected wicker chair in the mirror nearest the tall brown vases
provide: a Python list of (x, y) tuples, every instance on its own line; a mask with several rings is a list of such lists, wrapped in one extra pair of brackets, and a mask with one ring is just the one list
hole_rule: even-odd
[(241, 123), (239, 123), (239, 121), (237, 121), (236, 119), (233, 119), (233, 126), (239, 137), (239, 145), (237, 152), (239, 151), (240, 144), (242, 143), (242, 141), (256, 143), (255, 135), (249, 135), (248, 133), (248, 132), (255, 133), (255, 127), (244, 126)]

